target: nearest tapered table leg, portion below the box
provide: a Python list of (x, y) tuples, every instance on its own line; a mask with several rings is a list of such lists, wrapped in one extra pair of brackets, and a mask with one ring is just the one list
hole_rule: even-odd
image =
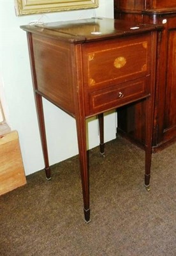
[(86, 132), (85, 132), (85, 119), (76, 117), (77, 122), (77, 138), (78, 150), (80, 157), (80, 174), (82, 180), (82, 195), (84, 200), (84, 218), (85, 222), (90, 221), (90, 202), (89, 202), (89, 169), (87, 163), (87, 148), (86, 148)]

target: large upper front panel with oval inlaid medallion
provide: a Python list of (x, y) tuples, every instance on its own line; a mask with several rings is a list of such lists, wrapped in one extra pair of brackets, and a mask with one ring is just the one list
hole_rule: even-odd
[(146, 76), (150, 73), (150, 34), (84, 44), (83, 61), (88, 88)]

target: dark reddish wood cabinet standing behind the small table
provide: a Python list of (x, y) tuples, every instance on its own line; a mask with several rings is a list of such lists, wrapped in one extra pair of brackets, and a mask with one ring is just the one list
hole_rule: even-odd
[[(176, 0), (114, 0), (115, 19), (163, 24), (159, 35), (153, 151), (176, 141)], [(145, 102), (118, 110), (117, 131), (145, 147)], [(142, 122), (141, 122), (142, 120)]]

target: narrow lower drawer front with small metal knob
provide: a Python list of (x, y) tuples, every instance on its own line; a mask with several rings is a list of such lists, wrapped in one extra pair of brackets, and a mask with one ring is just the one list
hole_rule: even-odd
[(87, 116), (118, 108), (137, 99), (147, 97), (147, 77), (111, 86), (110, 88), (89, 93), (89, 103), (85, 104)]

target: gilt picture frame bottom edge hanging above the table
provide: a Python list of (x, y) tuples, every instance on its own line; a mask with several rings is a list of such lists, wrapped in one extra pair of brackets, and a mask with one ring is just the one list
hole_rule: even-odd
[(98, 8), (99, 0), (15, 0), (17, 16)]

